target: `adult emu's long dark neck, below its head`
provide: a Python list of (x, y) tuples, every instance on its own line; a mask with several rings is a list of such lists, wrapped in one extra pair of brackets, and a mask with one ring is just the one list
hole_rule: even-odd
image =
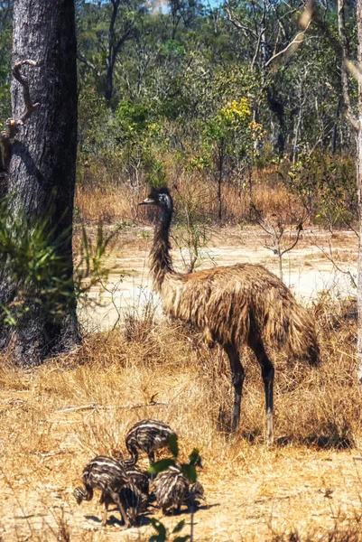
[(172, 204), (161, 210), (160, 221), (156, 226), (151, 251), (151, 273), (154, 288), (159, 292), (166, 275), (173, 273), (170, 256), (170, 226), (172, 219)]

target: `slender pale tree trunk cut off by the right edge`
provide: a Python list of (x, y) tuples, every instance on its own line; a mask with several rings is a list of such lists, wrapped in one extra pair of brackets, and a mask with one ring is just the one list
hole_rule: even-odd
[[(362, 66), (362, 0), (357, 0), (357, 66)], [(358, 79), (358, 129), (357, 129), (357, 193), (359, 218), (359, 253), (357, 271), (357, 361), (358, 378), (362, 383), (362, 81)]]

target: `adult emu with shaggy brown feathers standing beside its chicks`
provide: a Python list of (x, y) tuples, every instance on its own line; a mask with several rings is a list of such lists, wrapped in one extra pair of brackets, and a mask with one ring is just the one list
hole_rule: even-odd
[(264, 266), (237, 264), (176, 273), (170, 256), (170, 192), (153, 189), (140, 205), (156, 205), (161, 211), (151, 249), (151, 272), (163, 310), (200, 329), (209, 346), (218, 342), (227, 352), (235, 389), (232, 431), (240, 421), (245, 378), (239, 350), (247, 344), (255, 352), (265, 385), (266, 443), (273, 444), (274, 366), (265, 344), (316, 364), (319, 347), (311, 316)]

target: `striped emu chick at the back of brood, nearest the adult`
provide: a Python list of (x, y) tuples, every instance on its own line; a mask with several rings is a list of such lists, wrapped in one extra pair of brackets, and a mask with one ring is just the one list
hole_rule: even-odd
[(154, 453), (170, 444), (177, 435), (169, 425), (157, 420), (142, 420), (133, 425), (125, 435), (125, 446), (132, 456), (132, 463), (138, 461), (138, 452), (147, 453), (150, 464), (154, 463)]

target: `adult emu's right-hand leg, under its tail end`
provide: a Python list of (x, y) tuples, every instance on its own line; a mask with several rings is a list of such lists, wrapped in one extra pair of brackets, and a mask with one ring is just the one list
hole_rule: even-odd
[(250, 348), (255, 352), (256, 359), (262, 368), (262, 378), (265, 387), (265, 440), (266, 444), (274, 443), (274, 426), (273, 426), (273, 387), (274, 387), (274, 366), (271, 360), (266, 355), (263, 341), (259, 338), (249, 342)]

